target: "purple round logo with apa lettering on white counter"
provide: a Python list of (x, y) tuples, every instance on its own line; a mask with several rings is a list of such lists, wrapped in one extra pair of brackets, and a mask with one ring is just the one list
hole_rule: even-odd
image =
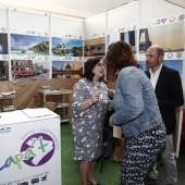
[(50, 135), (33, 134), (24, 140), (18, 153), (10, 156), (3, 164), (0, 164), (0, 171), (11, 165), (22, 169), (23, 163), (30, 166), (42, 165), (52, 158), (54, 150), (55, 144)]

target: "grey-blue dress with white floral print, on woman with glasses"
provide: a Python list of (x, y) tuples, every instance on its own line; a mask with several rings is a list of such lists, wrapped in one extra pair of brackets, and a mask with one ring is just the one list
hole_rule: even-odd
[[(81, 112), (81, 103), (100, 91), (99, 101)], [(73, 159), (96, 160), (101, 155), (102, 128), (109, 98), (106, 84), (82, 78), (73, 87)]]

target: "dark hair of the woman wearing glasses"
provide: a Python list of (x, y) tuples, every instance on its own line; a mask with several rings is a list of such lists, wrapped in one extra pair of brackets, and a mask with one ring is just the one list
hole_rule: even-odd
[[(92, 70), (97, 63), (99, 63), (101, 60), (103, 60), (103, 57), (96, 57), (96, 58), (90, 58), (87, 60), (85, 63), (85, 70), (83, 77), (86, 77), (88, 81), (94, 79), (95, 74), (92, 73)], [(103, 77), (99, 79), (100, 82), (103, 81)]]

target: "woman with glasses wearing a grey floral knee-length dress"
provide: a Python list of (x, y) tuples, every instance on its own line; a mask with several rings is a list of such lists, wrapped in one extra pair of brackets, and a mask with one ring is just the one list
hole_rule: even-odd
[(83, 78), (73, 87), (73, 159), (79, 160), (81, 184), (100, 185), (94, 178), (96, 159), (101, 155), (102, 128), (108, 109), (108, 90), (103, 83), (103, 58), (85, 64)]

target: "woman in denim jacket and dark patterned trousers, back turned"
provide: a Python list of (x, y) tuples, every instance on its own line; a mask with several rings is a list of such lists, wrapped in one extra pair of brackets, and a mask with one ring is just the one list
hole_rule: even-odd
[(111, 74), (119, 71), (113, 91), (115, 113), (110, 125), (121, 125), (126, 140), (121, 185), (143, 185), (147, 171), (165, 145), (165, 126), (156, 94), (128, 44), (111, 44), (106, 64)]

